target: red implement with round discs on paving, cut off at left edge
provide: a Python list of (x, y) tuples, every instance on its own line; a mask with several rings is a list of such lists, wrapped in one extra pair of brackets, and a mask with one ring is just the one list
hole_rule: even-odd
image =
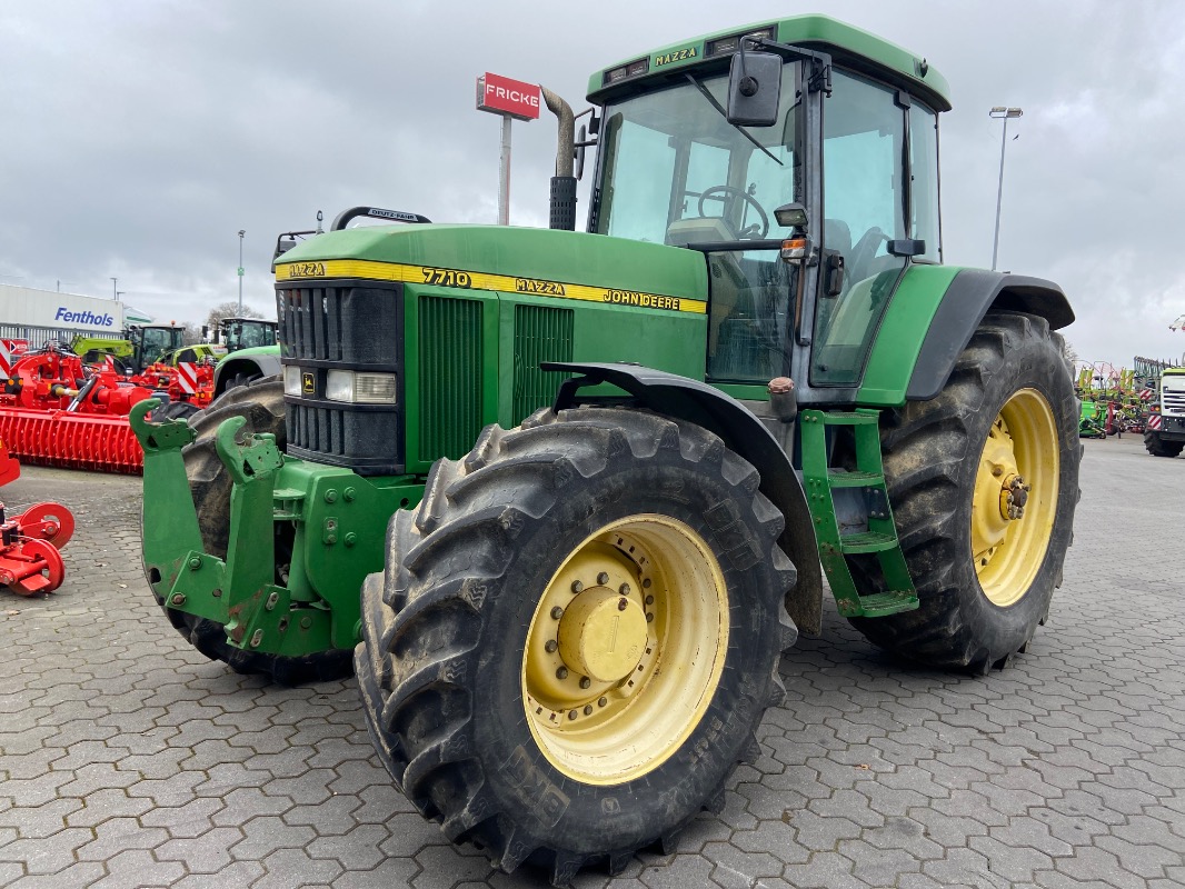
[[(0, 485), (20, 475), (20, 463), (0, 443)], [(59, 549), (73, 535), (73, 516), (62, 504), (38, 503), (8, 516), (0, 503), (0, 586), (21, 596), (52, 593), (65, 565)]]

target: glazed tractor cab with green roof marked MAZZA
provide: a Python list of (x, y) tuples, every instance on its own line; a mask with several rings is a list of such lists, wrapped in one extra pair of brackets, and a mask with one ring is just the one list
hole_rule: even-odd
[[(755, 26), (594, 76), (589, 230), (704, 254), (709, 382), (792, 376), (805, 401), (852, 401), (907, 266), (941, 258), (947, 87), (828, 19), (779, 37)], [(762, 120), (743, 104), (757, 100)]]

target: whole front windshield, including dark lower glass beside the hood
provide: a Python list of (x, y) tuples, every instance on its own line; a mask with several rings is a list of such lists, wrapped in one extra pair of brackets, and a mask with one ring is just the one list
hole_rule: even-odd
[[(802, 199), (796, 71), (793, 63), (782, 68), (773, 127), (742, 130), (725, 120), (716, 105), (728, 101), (726, 75), (688, 77), (608, 105), (592, 230), (681, 247), (789, 235), (774, 210)], [(710, 380), (764, 382), (787, 372), (798, 269), (761, 247), (705, 254)]]

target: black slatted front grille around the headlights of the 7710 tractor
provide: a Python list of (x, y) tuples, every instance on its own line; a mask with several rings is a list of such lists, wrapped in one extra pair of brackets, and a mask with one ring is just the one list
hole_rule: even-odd
[[(319, 281), (277, 287), (281, 364), (309, 377), (313, 391), (286, 395), (288, 453), (360, 475), (403, 472), (403, 286)], [(395, 404), (325, 397), (331, 370), (396, 373)]]

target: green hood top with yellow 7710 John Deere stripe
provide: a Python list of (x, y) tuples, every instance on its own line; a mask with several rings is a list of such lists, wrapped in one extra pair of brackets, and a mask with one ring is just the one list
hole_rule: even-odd
[[(276, 263), (278, 282), (377, 279), (474, 289), (572, 295), (565, 286), (702, 302), (703, 254), (606, 235), (495, 225), (366, 226), (303, 242)], [(510, 280), (513, 279), (513, 280)], [(558, 287), (557, 287), (558, 286)], [(575, 290), (574, 290), (575, 293)], [(581, 290), (581, 299), (588, 299)]]

